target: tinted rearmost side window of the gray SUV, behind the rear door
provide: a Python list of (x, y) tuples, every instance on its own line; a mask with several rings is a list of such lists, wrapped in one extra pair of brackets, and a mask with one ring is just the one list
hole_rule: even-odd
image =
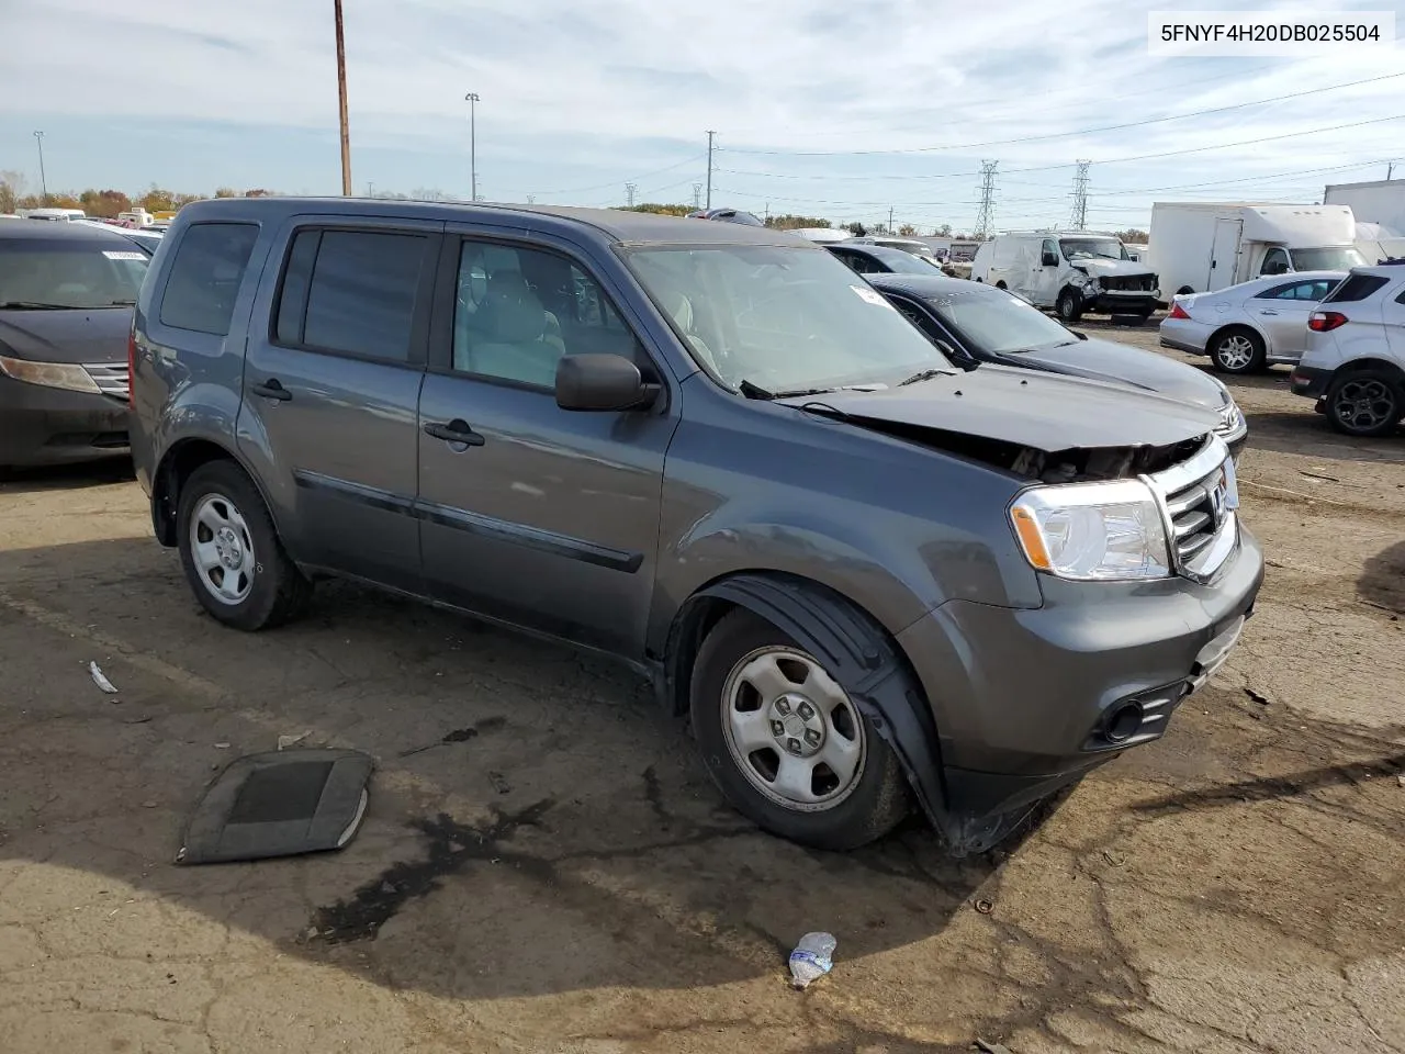
[(191, 223), (185, 228), (162, 297), (162, 325), (228, 336), (235, 298), (257, 239), (257, 223)]

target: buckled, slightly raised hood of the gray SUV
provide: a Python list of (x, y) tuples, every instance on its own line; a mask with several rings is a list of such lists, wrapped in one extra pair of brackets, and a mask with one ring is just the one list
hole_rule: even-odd
[(1072, 447), (1169, 447), (1204, 436), (1218, 416), (1124, 385), (1033, 370), (982, 365), (877, 392), (839, 391), (780, 399), (854, 419), (941, 429), (1044, 453)]

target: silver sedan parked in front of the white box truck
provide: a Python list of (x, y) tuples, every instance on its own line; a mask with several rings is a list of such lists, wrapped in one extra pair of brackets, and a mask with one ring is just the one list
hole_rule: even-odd
[(1176, 297), (1161, 323), (1161, 346), (1210, 356), (1224, 374), (1297, 363), (1307, 350), (1308, 315), (1345, 277), (1346, 271), (1295, 271)]

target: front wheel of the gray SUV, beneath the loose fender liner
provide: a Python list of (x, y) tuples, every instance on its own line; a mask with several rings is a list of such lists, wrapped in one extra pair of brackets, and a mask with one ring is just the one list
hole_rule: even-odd
[[(773, 690), (757, 690), (757, 682)], [(714, 783), (773, 835), (847, 850), (888, 833), (908, 812), (888, 743), (813, 656), (750, 611), (724, 616), (698, 649), (691, 722)]]

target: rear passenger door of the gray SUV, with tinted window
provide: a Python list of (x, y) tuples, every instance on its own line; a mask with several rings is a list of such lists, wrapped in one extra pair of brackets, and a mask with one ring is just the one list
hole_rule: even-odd
[[(443, 223), (298, 216), (254, 305), (239, 441), (302, 562), (419, 592), (420, 384)], [(263, 320), (267, 320), (266, 323)]]

